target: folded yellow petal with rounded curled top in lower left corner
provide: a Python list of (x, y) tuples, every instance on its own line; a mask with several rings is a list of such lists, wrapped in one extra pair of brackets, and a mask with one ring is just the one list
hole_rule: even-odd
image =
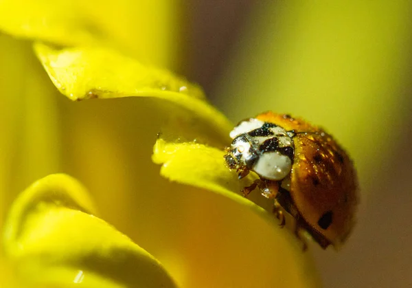
[(175, 287), (159, 261), (93, 214), (84, 188), (50, 175), (16, 199), (5, 224), (5, 253), (34, 285)]

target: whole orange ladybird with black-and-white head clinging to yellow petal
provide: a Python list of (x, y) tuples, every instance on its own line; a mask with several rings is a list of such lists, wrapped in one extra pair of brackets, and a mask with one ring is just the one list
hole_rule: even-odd
[(250, 171), (260, 177), (242, 190), (245, 196), (258, 187), (274, 199), (281, 225), (283, 210), (296, 220), (300, 239), (306, 231), (323, 249), (345, 242), (354, 226), (358, 185), (352, 161), (332, 136), (305, 120), (266, 112), (240, 122), (230, 137), (229, 168), (239, 179)]

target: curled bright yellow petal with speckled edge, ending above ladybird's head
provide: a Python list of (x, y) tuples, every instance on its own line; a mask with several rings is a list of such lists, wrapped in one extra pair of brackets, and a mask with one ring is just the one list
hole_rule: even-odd
[[(181, 135), (182, 140), (196, 139), (219, 147), (229, 142), (232, 124), (206, 102), (200, 87), (184, 78), (107, 49), (55, 50), (43, 44), (37, 44), (35, 49), (54, 85), (71, 100), (157, 98), (163, 100), (161, 105), (170, 104), (163, 110), (173, 119), (168, 121), (165, 134), (179, 129), (179, 133), (172, 134)], [(160, 117), (159, 106), (153, 106), (152, 117)]]

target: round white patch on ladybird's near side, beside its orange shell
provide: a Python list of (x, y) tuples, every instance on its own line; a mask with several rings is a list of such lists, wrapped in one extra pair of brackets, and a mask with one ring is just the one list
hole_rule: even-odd
[(253, 171), (268, 180), (284, 179), (292, 170), (292, 161), (288, 156), (279, 152), (267, 152), (260, 155), (253, 165)]

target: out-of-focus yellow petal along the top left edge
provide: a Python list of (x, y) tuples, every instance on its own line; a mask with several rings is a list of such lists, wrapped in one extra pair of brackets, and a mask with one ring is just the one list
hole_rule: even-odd
[(169, 0), (2, 0), (0, 30), (62, 46), (106, 45), (176, 67), (185, 43), (182, 7)]

